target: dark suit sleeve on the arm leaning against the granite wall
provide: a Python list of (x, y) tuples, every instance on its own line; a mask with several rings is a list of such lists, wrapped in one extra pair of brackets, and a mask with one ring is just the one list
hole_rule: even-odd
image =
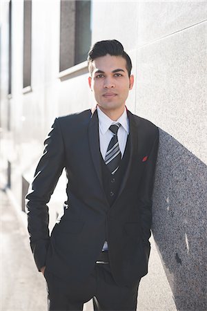
[(152, 149), (144, 170), (139, 191), (139, 205), (141, 207), (141, 233), (142, 241), (149, 245), (150, 228), (152, 225), (152, 192), (155, 181), (155, 166), (157, 162), (157, 151), (159, 146), (159, 130), (157, 129)]

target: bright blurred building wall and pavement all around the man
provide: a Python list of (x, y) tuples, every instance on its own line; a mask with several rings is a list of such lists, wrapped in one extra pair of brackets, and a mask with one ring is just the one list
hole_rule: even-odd
[[(160, 131), (138, 309), (207, 310), (207, 2), (98, 0), (0, 2), (1, 310), (46, 310), (24, 197), (55, 117), (94, 104), (86, 57), (103, 39), (121, 41), (132, 59), (126, 106)], [(65, 187), (63, 173), (50, 229)]]

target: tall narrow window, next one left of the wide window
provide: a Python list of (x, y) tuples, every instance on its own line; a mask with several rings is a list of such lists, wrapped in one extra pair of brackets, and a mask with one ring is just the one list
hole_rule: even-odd
[(32, 1), (23, 6), (23, 88), (31, 86)]

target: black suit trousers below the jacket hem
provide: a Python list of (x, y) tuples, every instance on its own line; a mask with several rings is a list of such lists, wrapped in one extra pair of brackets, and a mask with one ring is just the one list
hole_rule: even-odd
[(119, 286), (109, 263), (97, 263), (88, 279), (79, 286), (68, 286), (46, 270), (48, 311), (81, 311), (83, 303), (93, 299), (94, 310), (135, 311), (139, 281), (131, 287)]

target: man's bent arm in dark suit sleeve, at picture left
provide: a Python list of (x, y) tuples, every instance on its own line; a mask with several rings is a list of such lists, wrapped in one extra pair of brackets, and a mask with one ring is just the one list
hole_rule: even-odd
[(34, 180), (26, 196), (30, 246), (39, 271), (46, 265), (46, 253), (50, 243), (47, 203), (65, 167), (63, 139), (58, 119), (52, 125), (44, 146), (43, 156), (39, 160)]

